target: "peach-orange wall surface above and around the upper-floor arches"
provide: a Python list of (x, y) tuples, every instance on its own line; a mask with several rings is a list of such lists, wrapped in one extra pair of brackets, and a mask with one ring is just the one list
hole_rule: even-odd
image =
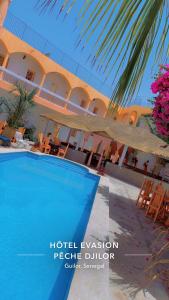
[[(79, 88), (82, 89), (85, 93), (85, 95), (88, 95), (88, 97), (85, 97), (86, 101), (86, 106), (88, 106), (89, 110), (93, 110), (94, 105), (93, 105), (93, 100), (97, 99), (98, 101), (98, 114), (100, 114), (100, 108), (102, 108), (103, 111), (106, 111), (109, 105), (109, 98), (106, 96), (102, 95), (98, 91), (96, 91), (94, 88), (89, 86), (86, 82), (81, 80), (80, 78), (76, 77), (74, 74), (70, 73), (66, 69), (64, 69), (62, 66), (58, 65), (54, 61), (52, 61), (49, 57), (46, 57), (43, 55), (41, 52), (38, 50), (32, 48), (30, 45), (25, 43), (24, 41), (20, 40), (16, 36), (14, 36), (12, 33), (7, 31), (5, 28), (0, 29), (0, 44), (3, 45), (3, 53), (4, 53), (4, 47), (6, 48), (6, 55), (9, 55), (9, 65), (10, 67), (10, 62), (12, 57), (18, 57), (19, 53), (21, 54), (26, 54), (28, 57), (31, 57), (37, 62), (37, 66), (40, 68), (43, 76), (47, 75), (50, 76), (49, 74), (53, 73), (59, 73), (60, 76), (63, 76), (67, 80), (67, 84), (69, 86), (69, 91)], [(1, 46), (2, 48), (2, 46)], [(16, 54), (18, 53), (18, 54)], [(18, 68), (20, 66), (18, 65)], [(16, 65), (17, 68), (17, 65)], [(16, 71), (16, 70), (15, 70)], [(37, 80), (37, 82), (40, 82)], [(10, 88), (11, 85), (7, 84), (6, 82), (1, 81), (0, 82), (1, 88)], [(66, 93), (69, 94), (69, 91), (67, 90)], [(69, 100), (71, 98), (71, 95), (69, 95)], [(76, 99), (72, 99), (74, 102), (76, 102)], [(47, 101), (46, 99), (42, 97), (36, 97), (35, 101), (41, 105), (44, 105), (46, 107), (50, 107), (51, 109), (54, 110), (59, 110), (62, 111), (66, 114), (70, 114), (71, 112), (68, 111), (65, 108), (58, 108), (55, 104), (51, 103), (50, 101)], [(68, 104), (69, 105), (69, 104)], [(118, 114), (118, 119), (122, 120), (123, 122), (130, 123), (132, 122), (135, 124), (139, 117), (144, 114), (151, 113), (151, 109), (146, 108), (146, 107), (141, 107), (141, 106), (132, 106), (128, 107), (125, 109), (120, 109), (119, 114)]]

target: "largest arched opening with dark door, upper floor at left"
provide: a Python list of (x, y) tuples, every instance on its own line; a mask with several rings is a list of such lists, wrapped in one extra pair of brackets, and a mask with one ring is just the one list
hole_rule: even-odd
[[(38, 85), (40, 85), (44, 74), (39, 62), (31, 55), (22, 52), (16, 52), (10, 55), (7, 69)], [(4, 79), (10, 83), (18, 81), (17, 77), (11, 74), (5, 74)], [(24, 83), (21, 79), (19, 79), (19, 81)], [(29, 84), (26, 84), (26, 87), (32, 89)]]

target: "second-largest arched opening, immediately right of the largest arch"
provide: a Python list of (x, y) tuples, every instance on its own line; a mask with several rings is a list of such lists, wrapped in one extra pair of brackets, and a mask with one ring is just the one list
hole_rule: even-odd
[[(52, 72), (46, 75), (43, 88), (63, 97), (66, 100), (71, 86), (65, 76), (57, 72)], [(59, 99), (59, 97), (57, 98), (56, 96), (50, 95), (45, 91), (41, 91), (40, 96), (56, 103), (57, 105), (65, 105), (65, 102)]]

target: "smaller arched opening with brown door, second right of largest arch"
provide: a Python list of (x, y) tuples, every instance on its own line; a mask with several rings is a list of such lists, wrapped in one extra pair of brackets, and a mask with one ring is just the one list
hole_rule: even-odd
[(74, 103), (82, 108), (87, 108), (89, 102), (89, 95), (84, 89), (79, 87), (74, 88), (69, 98), (68, 109), (76, 113), (81, 113), (81, 110), (71, 105), (71, 103)]

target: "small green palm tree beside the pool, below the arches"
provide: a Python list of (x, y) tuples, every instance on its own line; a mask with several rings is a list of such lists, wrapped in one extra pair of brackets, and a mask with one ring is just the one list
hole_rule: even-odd
[(28, 92), (19, 82), (14, 85), (10, 94), (14, 94), (14, 99), (0, 97), (0, 112), (7, 113), (7, 123), (9, 127), (18, 128), (24, 125), (25, 113), (34, 106), (33, 98), (37, 90)]

